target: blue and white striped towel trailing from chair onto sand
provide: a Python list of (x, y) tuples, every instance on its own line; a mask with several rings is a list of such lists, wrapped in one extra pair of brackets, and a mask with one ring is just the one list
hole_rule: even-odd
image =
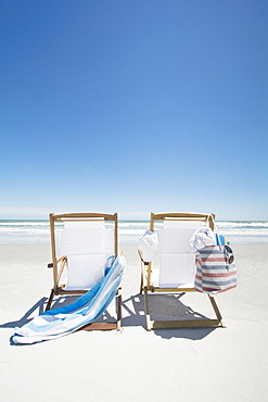
[(22, 328), (15, 328), (14, 343), (35, 343), (56, 339), (95, 321), (114, 299), (126, 262), (124, 256), (110, 256), (104, 278), (73, 304), (47, 311)]

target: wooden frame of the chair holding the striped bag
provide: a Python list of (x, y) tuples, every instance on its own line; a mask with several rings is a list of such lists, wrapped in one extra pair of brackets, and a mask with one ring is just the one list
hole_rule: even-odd
[[(171, 221), (208, 221), (209, 227), (214, 230), (214, 214), (200, 214), (200, 213), (163, 213), (154, 214), (151, 213), (150, 230), (154, 231), (154, 223), (171, 219)], [(151, 281), (152, 266), (153, 263), (146, 263), (142, 260), (142, 254), (139, 251), (141, 257), (141, 287), (140, 293), (144, 294), (144, 310), (146, 319), (146, 329), (161, 329), (161, 328), (216, 328), (224, 327), (222, 317), (217, 306), (217, 303), (212, 294), (207, 294), (212, 303), (213, 310), (216, 314), (216, 318), (196, 318), (196, 319), (179, 319), (179, 321), (152, 321), (149, 309), (149, 293), (163, 292), (163, 293), (181, 293), (181, 292), (195, 292), (196, 290), (191, 288), (159, 288), (153, 286)]]

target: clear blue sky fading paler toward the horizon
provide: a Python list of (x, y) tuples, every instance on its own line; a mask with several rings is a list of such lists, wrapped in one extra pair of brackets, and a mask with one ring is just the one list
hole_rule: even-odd
[(268, 219), (267, 0), (0, 0), (0, 218)]

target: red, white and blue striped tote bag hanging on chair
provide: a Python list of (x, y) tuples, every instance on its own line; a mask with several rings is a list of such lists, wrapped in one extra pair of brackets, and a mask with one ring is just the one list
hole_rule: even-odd
[(237, 286), (237, 267), (229, 246), (208, 246), (196, 255), (194, 288), (205, 293), (219, 293)]

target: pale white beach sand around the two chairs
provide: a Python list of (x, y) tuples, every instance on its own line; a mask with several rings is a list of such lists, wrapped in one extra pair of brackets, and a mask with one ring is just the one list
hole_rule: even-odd
[[(0, 244), (1, 401), (267, 401), (268, 244), (232, 248), (238, 288), (216, 296), (226, 328), (146, 331), (137, 248), (123, 246), (122, 332), (17, 347), (10, 344), (14, 327), (43, 311), (52, 286), (50, 246)], [(162, 313), (171, 317), (209, 306), (199, 293), (179, 299), (179, 312), (164, 299)]]

